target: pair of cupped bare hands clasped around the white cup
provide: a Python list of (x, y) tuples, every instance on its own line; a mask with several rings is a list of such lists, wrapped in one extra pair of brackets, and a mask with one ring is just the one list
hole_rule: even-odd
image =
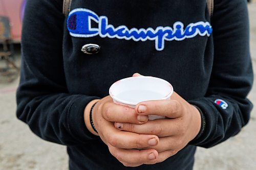
[[(152, 114), (165, 118), (149, 120)], [(176, 92), (170, 100), (145, 101), (135, 108), (117, 105), (108, 95), (98, 100), (92, 116), (98, 134), (90, 131), (124, 166), (162, 162), (183, 149), (201, 128), (198, 109)]]

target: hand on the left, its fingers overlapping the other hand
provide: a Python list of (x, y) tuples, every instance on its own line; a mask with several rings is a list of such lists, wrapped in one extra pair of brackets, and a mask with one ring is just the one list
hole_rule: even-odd
[[(150, 147), (157, 145), (159, 138), (152, 134), (137, 134), (120, 131), (114, 122), (141, 125), (147, 122), (146, 115), (137, 115), (135, 109), (113, 103), (110, 96), (98, 101), (93, 110), (93, 123), (110, 153), (125, 166), (154, 164), (158, 152)], [(138, 148), (149, 148), (138, 150)]]

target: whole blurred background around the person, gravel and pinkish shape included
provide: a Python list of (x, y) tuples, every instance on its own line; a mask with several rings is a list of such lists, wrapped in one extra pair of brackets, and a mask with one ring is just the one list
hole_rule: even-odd
[[(0, 170), (68, 170), (66, 147), (35, 136), (15, 115), (25, 3), (26, 0), (0, 0)], [(248, 10), (250, 50), (256, 75), (256, 0), (248, 3)], [(256, 169), (256, 83), (249, 99), (255, 105), (249, 124), (237, 136), (216, 147), (198, 148), (194, 169)]]

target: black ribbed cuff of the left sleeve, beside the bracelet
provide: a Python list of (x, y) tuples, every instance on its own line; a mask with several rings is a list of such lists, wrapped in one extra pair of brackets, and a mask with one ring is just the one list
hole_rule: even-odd
[(86, 140), (97, 139), (98, 136), (92, 134), (84, 123), (84, 109), (87, 104), (92, 100), (99, 99), (97, 97), (77, 95), (77, 99), (74, 100), (68, 113), (68, 128), (70, 133), (81, 143)]

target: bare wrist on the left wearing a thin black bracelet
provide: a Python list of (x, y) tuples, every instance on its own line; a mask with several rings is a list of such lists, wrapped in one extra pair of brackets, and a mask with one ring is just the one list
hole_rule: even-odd
[(93, 107), (93, 105), (98, 102), (99, 99), (96, 99), (96, 100), (93, 100), (91, 101), (90, 103), (88, 103), (88, 105), (86, 106), (86, 108), (84, 109), (84, 123), (86, 124), (86, 127), (87, 129), (94, 135), (97, 135), (98, 136), (98, 133), (96, 133), (92, 127), (92, 123), (91, 123), (91, 119), (94, 120), (94, 117), (93, 116), (91, 119), (90, 119), (90, 113), (91, 113), (91, 109)]

